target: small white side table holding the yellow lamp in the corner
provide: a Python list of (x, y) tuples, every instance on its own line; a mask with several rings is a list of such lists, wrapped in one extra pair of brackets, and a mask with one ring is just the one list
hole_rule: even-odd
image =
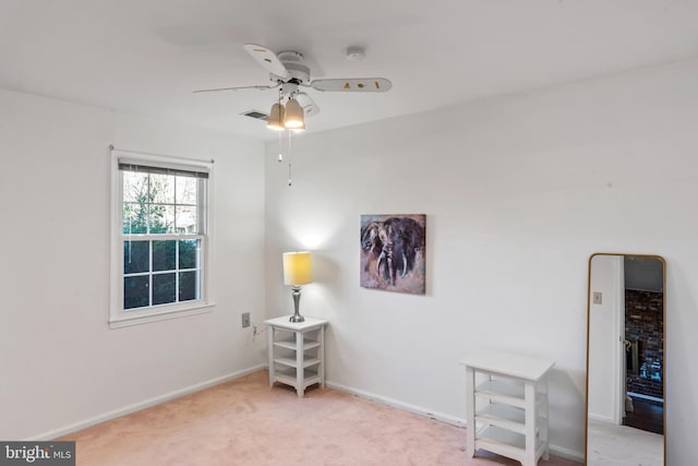
[(264, 321), (269, 327), (269, 385), (285, 383), (303, 396), (305, 389), (325, 386), (325, 326), (323, 319), (289, 322), (289, 315)]

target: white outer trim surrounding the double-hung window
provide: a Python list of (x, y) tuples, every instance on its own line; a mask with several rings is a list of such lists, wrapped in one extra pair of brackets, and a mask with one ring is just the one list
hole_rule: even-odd
[[(154, 166), (198, 168), (208, 171), (206, 182), (206, 218), (205, 218), (205, 242), (204, 253), (201, 258), (203, 265), (202, 274), (202, 298), (195, 301), (179, 302), (163, 307), (147, 308), (143, 310), (123, 310), (123, 228), (121, 216), (123, 210), (123, 198), (121, 187), (121, 175), (119, 162), (135, 163), (141, 165), (153, 164)], [(188, 315), (196, 315), (210, 312), (216, 306), (213, 299), (213, 163), (166, 157), (155, 154), (142, 154), (125, 151), (111, 151), (111, 222), (110, 222), (110, 280), (109, 280), (109, 327), (121, 328), (130, 325), (139, 325), (149, 322), (158, 322), (169, 319), (178, 319)]]

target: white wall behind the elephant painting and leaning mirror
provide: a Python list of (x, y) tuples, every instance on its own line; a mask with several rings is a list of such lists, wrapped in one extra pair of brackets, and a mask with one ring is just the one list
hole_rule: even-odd
[[(315, 251), (301, 309), (332, 322), (337, 385), (465, 418), (459, 359), (556, 361), (551, 443), (582, 455), (587, 260), (667, 261), (669, 464), (698, 455), (698, 61), (492, 98), (266, 146), (267, 306), (290, 313), (280, 254)], [(395, 82), (399, 85), (399, 81)], [(364, 98), (370, 111), (371, 98)], [(341, 111), (323, 108), (323, 112)], [(312, 120), (308, 121), (312, 126)], [(426, 296), (359, 287), (359, 216), (428, 215)]]

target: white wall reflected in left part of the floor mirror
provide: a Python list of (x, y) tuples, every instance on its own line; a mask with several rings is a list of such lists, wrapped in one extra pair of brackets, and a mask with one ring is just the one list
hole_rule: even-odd
[[(595, 255), (591, 261), (589, 294), (601, 292), (601, 303), (589, 308), (589, 417), (619, 425), (621, 351), (619, 320), (623, 286), (623, 256)], [(625, 299), (625, 297), (623, 296)], [(624, 313), (625, 315), (625, 313)]]

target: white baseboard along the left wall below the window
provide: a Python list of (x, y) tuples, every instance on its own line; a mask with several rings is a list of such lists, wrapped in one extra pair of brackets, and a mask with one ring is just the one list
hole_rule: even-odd
[(169, 402), (170, 399), (179, 398), (180, 396), (184, 396), (184, 395), (188, 395), (188, 394), (193, 393), (193, 392), (198, 392), (200, 390), (208, 389), (210, 386), (218, 385), (218, 384), (224, 383), (224, 382), (228, 382), (228, 381), (231, 381), (231, 380), (234, 380), (234, 379), (239, 379), (239, 378), (248, 375), (248, 374), (250, 374), (252, 372), (260, 371), (260, 370), (262, 370), (264, 368), (265, 368), (264, 365), (257, 365), (257, 366), (254, 366), (254, 367), (251, 367), (251, 368), (248, 368), (248, 369), (243, 369), (243, 370), (240, 370), (240, 371), (237, 371), (237, 372), (229, 373), (227, 375), (222, 375), (222, 377), (219, 377), (219, 378), (216, 378), (216, 379), (212, 379), (212, 380), (208, 380), (208, 381), (205, 381), (205, 382), (196, 383), (194, 385), (190, 385), (190, 386), (186, 386), (186, 387), (181, 389), (181, 390), (176, 390), (173, 392), (169, 392), (169, 393), (166, 393), (164, 395), (156, 396), (154, 398), (149, 398), (149, 399), (145, 399), (143, 402), (134, 403), (132, 405), (124, 406), (124, 407), (119, 408), (119, 409), (113, 409), (111, 411), (104, 413), (104, 414), (101, 414), (99, 416), (95, 416), (95, 417), (89, 418), (89, 419), (84, 419), (84, 420), (71, 423), (69, 426), (63, 426), (63, 427), (60, 427), (58, 429), (55, 429), (55, 430), (51, 430), (51, 431), (48, 431), (48, 432), (44, 432), (44, 433), (38, 434), (38, 435), (34, 435), (32, 438), (25, 439), (25, 441), (27, 441), (27, 442), (39, 442), (39, 441), (53, 440), (53, 439), (57, 439), (59, 437), (63, 437), (63, 435), (67, 435), (69, 433), (72, 433), (72, 432), (76, 432), (79, 430), (86, 429), (88, 427), (92, 427), (92, 426), (95, 426), (95, 425), (98, 425), (98, 423), (101, 423), (101, 422), (106, 422), (106, 421), (111, 420), (111, 419), (119, 418), (121, 416), (130, 415), (131, 413), (140, 411), (141, 409), (149, 408), (151, 406), (155, 406), (155, 405), (159, 405), (159, 404), (165, 403), (165, 402)]

